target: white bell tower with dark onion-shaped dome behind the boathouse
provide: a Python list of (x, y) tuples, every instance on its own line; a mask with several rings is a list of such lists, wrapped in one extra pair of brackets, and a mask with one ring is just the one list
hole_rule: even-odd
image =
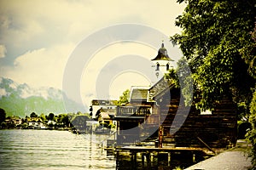
[(161, 78), (160, 75), (167, 73), (173, 67), (171, 62), (174, 60), (168, 56), (164, 42), (162, 42), (157, 56), (151, 60), (154, 62), (154, 73), (158, 80)]

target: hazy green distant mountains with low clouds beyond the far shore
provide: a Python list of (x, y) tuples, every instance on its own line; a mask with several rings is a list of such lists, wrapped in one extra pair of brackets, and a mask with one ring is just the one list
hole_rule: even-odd
[[(57, 88), (31, 88), (26, 83), (19, 84), (9, 78), (0, 78), (0, 108), (3, 108), (7, 116), (29, 116), (32, 112), (41, 113), (66, 113), (87, 111), (83, 105), (79, 105)], [(66, 98), (67, 105), (63, 99)], [(68, 108), (68, 109), (67, 109)], [(68, 111), (67, 111), (68, 110)]]

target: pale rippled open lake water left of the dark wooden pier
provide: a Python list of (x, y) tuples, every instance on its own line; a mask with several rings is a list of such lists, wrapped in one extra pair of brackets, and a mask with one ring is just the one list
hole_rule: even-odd
[(115, 169), (99, 143), (104, 135), (0, 130), (0, 169)]

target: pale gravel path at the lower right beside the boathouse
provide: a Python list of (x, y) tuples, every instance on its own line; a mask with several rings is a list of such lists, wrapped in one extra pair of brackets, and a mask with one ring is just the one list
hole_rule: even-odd
[(206, 161), (201, 161), (185, 170), (247, 170), (251, 161), (243, 151), (225, 151), (218, 156), (212, 156)]

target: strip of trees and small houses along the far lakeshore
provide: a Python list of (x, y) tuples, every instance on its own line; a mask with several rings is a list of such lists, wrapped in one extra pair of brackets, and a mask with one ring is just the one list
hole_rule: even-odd
[(86, 126), (86, 120), (90, 120), (88, 113), (54, 113), (40, 114), (32, 112), (30, 116), (6, 116), (3, 109), (0, 109), (0, 128), (22, 128), (22, 129), (56, 129), (71, 130), (76, 127)]

